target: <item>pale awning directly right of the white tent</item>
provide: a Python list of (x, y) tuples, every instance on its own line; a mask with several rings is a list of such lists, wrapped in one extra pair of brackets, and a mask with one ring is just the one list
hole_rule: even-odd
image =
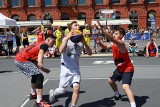
[[(17, 26), (40, 26), (41, 21), (35, 20), (35, 21), (17, 21)], [(51, 25), (49, 20), (43, 20), (43, 25)]]

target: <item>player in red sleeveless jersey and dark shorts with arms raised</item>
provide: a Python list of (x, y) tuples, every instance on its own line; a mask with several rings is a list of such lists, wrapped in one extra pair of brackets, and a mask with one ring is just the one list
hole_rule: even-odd
[(122, 41), (122, 38), (125, 35), (125, 30), (123, 28), (118, 28), (117, 30), (115, 30), (112, 36), (111, 33), (106, 32), (106, 30), (101, 27), (99, 21), (97, 21), (97, 23), (98, 28), (103, 32), (103, 34), (108, 38), (108, 40), (111, 41), (109, 45), (104, 45), (100, 39), (97, 39), (97, 43), (103, 49), (112, 48), (114, 63), (117, 67), (111, 75), (110, 79), (108, 80), (110, 86), (115, 92), (113, 100), (119, 100), (122, 98), (122, 96), (119, 94), (118, 87), (115, 83), (116, 81), (122, 80), (122, 88), (128, 96), (131, 107), (136, 107), (134, 95), (130, 88), (134, 73), (134, 67), (129, 58), (125, 42)]

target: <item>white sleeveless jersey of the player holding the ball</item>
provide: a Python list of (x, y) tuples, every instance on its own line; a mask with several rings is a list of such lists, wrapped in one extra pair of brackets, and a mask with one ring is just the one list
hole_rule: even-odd
[(82, 48), (83, 44), (81, 42), (75, 44), (69, 39), (67, 48), (62, 53), (61, 63), (70, 69), (79, 70), (79, 57), (81, 55)]

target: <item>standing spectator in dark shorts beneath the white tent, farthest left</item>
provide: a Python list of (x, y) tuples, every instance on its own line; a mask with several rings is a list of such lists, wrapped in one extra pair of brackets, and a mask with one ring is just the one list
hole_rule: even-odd
[(13, 53), (13, 37), (14, 34), (7, 28), (6, 41), (7, 41), (9, 55)]

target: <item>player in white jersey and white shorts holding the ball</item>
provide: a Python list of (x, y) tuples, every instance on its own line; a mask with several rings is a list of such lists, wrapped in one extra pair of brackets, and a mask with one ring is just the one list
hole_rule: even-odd
[(84, 38), (82, 38), (79, 43), (73, 43), (70, 40), (74, 35), (74, 30), (78, 30), (78, 24), (76, 21), (70, 23), (69, 30), (69, 34), (63, 39), (59, 49), (59, 52), (62, 54), (59, 87), (55, 91), (50, 90), (49, 100), (50, 102), (54, 102), (55, 96), (65, 93), (67, 86), (71, 85), (73, 86), (71, 107), (75, 107), (80, 91), (81, 74), (79, 69), (79, 57), (83, 45), (85, 46), (88, 55), (92, 55), (92, 51)]

